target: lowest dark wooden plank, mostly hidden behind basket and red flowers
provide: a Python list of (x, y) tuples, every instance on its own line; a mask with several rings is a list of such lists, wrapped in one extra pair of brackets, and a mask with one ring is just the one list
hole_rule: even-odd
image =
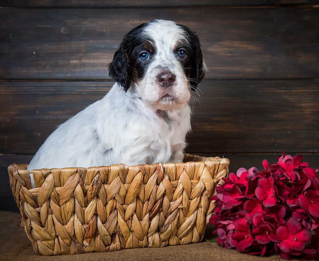
[[(292, 153), (296, 155), (300, 153)], [(277, 156), (273, 154), (201, 154), (203, 156), (219, 156), (228, 158), (230, 160), (230, 172), (237, 171), (238, 168), (257, 167), (262, 170), (263, 159), (268, 159), (270, 163), (277, 162)], [(17, 205), (12, 196), (11, 188), (9, 186), (9, 176), (7, 168), (13, 162), (15, 163), (28, 163), (32, 159), (33, 154), (0, 154), (0, 210), (9, 210), (19, 212)], [(313, 168), (319, 167), (318, 154), (304, 155), (304, 161), (308, 161)]]

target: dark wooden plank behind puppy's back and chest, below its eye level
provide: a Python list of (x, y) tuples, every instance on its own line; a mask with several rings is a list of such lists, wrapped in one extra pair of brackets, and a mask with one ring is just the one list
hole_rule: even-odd
[[(59, 124), (112, 85), (0, 82), (0, 153), (35, 153)], [(318, 152), (318, 79), (204, 80), (199, 89), (188, 152)]]

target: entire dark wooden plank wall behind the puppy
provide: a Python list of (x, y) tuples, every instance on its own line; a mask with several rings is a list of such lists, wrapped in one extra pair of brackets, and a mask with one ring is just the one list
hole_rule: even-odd
[[(67, 2), (67, 3), (66, 3)], [(0, 1), (0, 209), (16, 211), (7, 166), (27, 163), (65, 120), (113, 85), (131, 28), (169, 19), (196, 31), (209, 72), (187, 152), (231, 171), (286, 150), (319, 167), (319, 1)]]

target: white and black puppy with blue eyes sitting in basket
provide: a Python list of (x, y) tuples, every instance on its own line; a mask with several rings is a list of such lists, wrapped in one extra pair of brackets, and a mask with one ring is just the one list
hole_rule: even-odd
[(204, 78), (197, 35), (153, 20), (124, 36), (109, 65), (116, 84), (61, 124), (28, 169), (181, 162), (191, 89)]

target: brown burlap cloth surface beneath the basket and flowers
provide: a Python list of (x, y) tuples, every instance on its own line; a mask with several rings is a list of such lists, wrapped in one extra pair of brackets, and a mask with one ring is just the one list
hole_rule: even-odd
[[(68, 256), (38, 256), (20, 227), (20, 214), (4, 211), (0, 212), (0, 233), (0, 260), (282, 260), (279, 256), (255, 257), (241, 254), (235, 250), (223, 249), (216, 243), (207, 242), (206, 240), (196, 244), (167, 246), (164, 248), (125, 249), (108, 253), (87, 253)], [(210, 236), (211, 232), (209, 231), (207, 235)]]

